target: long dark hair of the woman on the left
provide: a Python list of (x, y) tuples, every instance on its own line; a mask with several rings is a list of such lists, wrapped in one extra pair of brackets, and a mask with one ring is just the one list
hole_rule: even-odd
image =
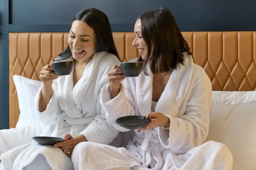
[[(74, 21), (83, 21), (94, 30), (94, 33), (96, 34), (95, 52), (107, 51), (114, 54), (120, 60), (114, 44), (109, 20), (104, 12), (95, 8), (86, 8), (76, 14), (72, 20), (72, 23)], [(71, 55), (72, 52), (68, 45), (54, 61), (65, 60)]]

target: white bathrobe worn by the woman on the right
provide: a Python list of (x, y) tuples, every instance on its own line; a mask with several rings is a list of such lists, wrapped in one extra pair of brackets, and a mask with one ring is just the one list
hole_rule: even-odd
[[(148, 71), (149, 76), (141, 72), (138, 77), (125, 78), (114, 99), (110, 98), (109, 85), (103, 87), (101, 104), (106, 110), (107, 121), (116, 129), (129, 130), (117, 125), (117, 118), (152, 112), (153, 74), (149, 67)], [(211, 97), (210, 79), (203, 68), (187, 56), (185, 65), (179, 64), (173, 70), (155, 107), (155, 112), (170, 118), (170, 130), (162, 127), (136, 129), (127, 149), (81, 143), (73, 151), (72, 160), (79, 159), (79, 167), (84, 170), (120, 167), (133, 170), (148, 167), (154, 170), (231, 170), (232, 155), (225, 145), (214, 141), (202, 144), (209, 129)], [(86, 155), (91, 155), (90, 160), (85, 158)], [(100, 159), (93, 159), (97, 155)], [(75, 163), (74, 166), (77, 169)]]

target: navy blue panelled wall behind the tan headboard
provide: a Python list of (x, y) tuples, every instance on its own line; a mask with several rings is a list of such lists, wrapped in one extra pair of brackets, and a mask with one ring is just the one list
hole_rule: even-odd
[(181, 31), (256, 31), (255, 0), (0, 0), (0, 129), (9, 127), (8, 33), (68, 32), (88, 7), (105, 12), (113, 32), (133, 32), (138, 15), (157, 7), (168, 8)]

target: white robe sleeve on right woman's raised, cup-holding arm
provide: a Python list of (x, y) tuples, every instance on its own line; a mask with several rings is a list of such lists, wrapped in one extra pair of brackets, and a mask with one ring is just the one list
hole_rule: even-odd
[[(116, 124), (116, 119), (123, 116), (135, 115), (135, 102), (132, 92), (134, 82), (133, 78), (125, 78), (120, 87), (120, 93), (111, 99), (109, 84), (103, 87), (101, 96), (101, 105), (106, 110), (107, 121), (119, 131), (129, 131)], [(124, 87), (125, 86), (125, 87)]]

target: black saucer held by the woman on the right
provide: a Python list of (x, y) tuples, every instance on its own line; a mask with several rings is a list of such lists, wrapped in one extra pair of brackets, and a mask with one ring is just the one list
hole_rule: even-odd
[(118, 118), (116, 123), (127, 129), (139, 129), (144, 126), (147, 126), (150, 123), (151, 119), (143, 119), (143, 116), (124, 116)]

